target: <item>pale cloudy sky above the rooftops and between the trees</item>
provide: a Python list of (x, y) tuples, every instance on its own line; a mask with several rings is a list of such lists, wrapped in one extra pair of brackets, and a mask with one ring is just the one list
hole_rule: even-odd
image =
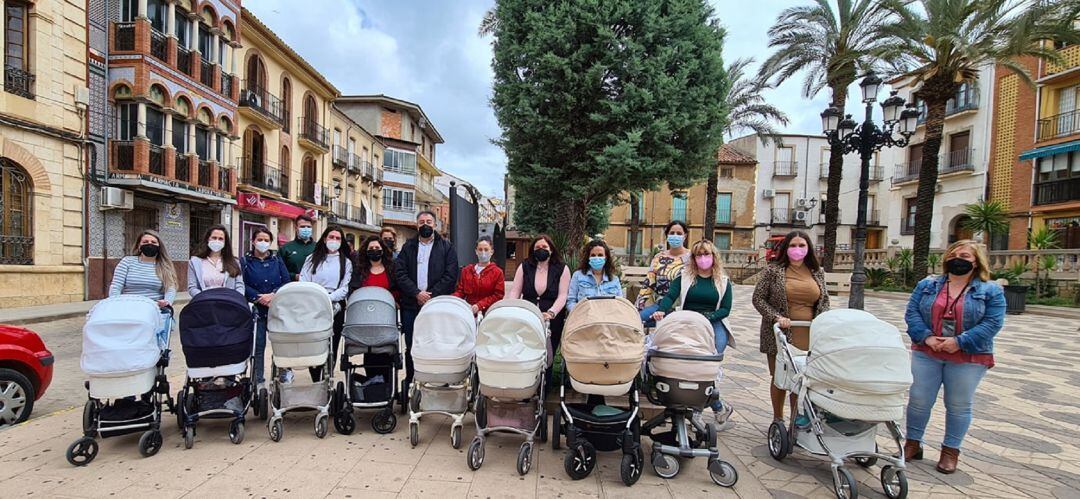
[[(795, 0), (756, 0), (720, 9), (725, 58), (767, 54), (766, 31)], [(487, 195), (502, 195), (505, 158), (492, 146), (499, 125), (488, 107), (491, 46), (476, 27), (494, 0), (247, 0), (244, 6), (345, 94), (388, 94), (419, 104), (446, 139), (437, 166)], [(788, 113), (791, 133), (816, 133), (827, 92), (813, 100), (789, 81), (769, 93)]]

